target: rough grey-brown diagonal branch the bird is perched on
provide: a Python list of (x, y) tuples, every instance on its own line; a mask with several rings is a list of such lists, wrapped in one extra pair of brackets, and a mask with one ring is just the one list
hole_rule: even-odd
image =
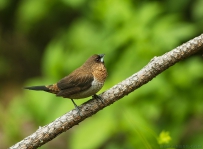
[(100, 94), (103, 98), (103, 103), (99, 100), (91, 99), (79, 106), (81, 109), (81, 116), (73, 109), (50, 124), (40, 127), (35, 133), (13, 145), (10, 149), (34, 149), (42, 146), (62, 132), (67, 131), (74, 125), (79, 124), (81, 121), (97, 113), (99, 110), (109, 106), (123, 96), (146, 84), (170, 66), (199, 51), (201, 46), (203, 46), (203, 34), (162, 56), (154, 57), (139, 72)]

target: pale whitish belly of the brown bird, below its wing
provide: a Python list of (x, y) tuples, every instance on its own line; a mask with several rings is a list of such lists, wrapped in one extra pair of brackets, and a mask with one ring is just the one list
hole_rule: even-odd
[(86, 97), (92, 96), (92, 95), (96, 94), (103, 87), (103, 85), (104, 85), (103, 82), (101, 83), (97, 79), (94, 79), (92, 81), (92, 85), (90, 88), (88, 88), (85, 91), (79, 92), (77, 94), (71, 95), (69, 98), (81, 99), (81, 98), (86, 98)]

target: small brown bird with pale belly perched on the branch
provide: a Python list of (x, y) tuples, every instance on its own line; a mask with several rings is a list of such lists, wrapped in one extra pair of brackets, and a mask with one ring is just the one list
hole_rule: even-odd
[(56, 96), (70, 98), (79, 112), (79, 108), (73, 99), (89, 96), (101, 99), (96, 93), (103, 87), (106, 77), (107, 70), (104, 66), (104, 54), (95, 54), (59, 82), (46, 86), (25, 87), (25, 89), (46, 91), (56, 94)]

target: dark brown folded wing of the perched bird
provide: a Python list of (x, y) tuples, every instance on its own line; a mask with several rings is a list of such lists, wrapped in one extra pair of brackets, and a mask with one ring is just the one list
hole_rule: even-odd
[(60, 89), (57, 96), (69, 97), (70, 95), (89, 89), (94, 77), (88, 73), (74, 73), (61, 79), (57, 86)]

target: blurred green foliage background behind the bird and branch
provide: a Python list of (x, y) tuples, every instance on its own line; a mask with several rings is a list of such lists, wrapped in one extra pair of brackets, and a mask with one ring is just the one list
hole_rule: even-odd
[[(203, 32), (203, 0), (0, 0), (0, 149), (73, 109), (23, 86), (55, 83), (105, 53), (103, 89)], [(203, 148), (199, 52), (42, 149)], [(78, 105), (87, 101), (77, 100)]]

